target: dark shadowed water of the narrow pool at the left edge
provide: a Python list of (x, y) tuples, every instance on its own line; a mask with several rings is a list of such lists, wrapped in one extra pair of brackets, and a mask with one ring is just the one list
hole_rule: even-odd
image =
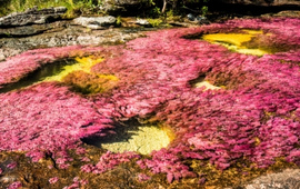
[(22, 89), (37, 82), (40, 82), (44, 80), (47, 77), (59, 74), (61, 71), (63, 71), (63, 67), (74, 63), (77, 62), (73, 59), (64, 59), (44, 64), (39, 69), (28, 73), (19, 81), (4, 86), (3, 88), (0, 89), (0, 93)]

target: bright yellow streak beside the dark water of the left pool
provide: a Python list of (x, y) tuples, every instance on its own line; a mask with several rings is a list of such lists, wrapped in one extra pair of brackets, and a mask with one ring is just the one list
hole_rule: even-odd
[(96, 63), (103, 61), (103, 58), (98, 57), (83, 57), (83, 58), (76, 58), (77, 63), (74, 64), (67, 64), (62, 68), (58, 74), (47, 77), (43, 81), (62, 81), (62, 79), (73, 71), (84, 71), (90, 73), (90, 69)]

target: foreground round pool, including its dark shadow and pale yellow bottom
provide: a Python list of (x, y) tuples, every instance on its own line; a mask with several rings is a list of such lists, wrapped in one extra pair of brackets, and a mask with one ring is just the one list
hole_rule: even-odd
[(136, 151), (149, 155), (153, 150), (167, 148), (172, 140), (171, 130), (159, 123), (141, 123), (137, 119), (120, 122), (114, 132), (106, 137), (84, 138), (82, 141), (112, 152)]

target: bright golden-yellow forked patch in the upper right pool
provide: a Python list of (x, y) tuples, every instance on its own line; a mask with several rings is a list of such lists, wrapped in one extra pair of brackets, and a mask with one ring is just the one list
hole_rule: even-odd
[(239, 53), (253, 54), (253, 56), (263, 56), (268, 53), (268, 51), (266, 50), (262, 50), (259, 48), (247, 48), (247, 46), (244, 46), (247, 42), (250, 42), (252, 39), (258, 38), (259, 34), (263, 34), (262, 30), (244, 29), (241, 31), (243, 31), (244, 33), (212, 33), (212, 34), (204, 34), (202, 39), (211, 43), (221, 44), (228, 48), (229, 50), (232, 50)]

